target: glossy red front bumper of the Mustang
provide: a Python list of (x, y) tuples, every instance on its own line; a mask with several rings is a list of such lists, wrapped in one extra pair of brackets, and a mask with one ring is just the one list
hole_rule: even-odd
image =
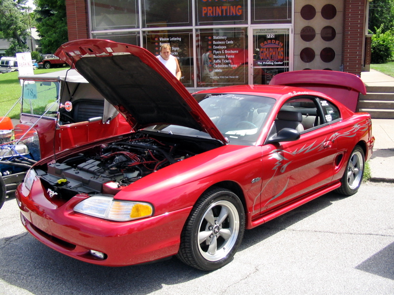
[[(72, 208), (86, 196), (75, 196), (57, 207), (44, 194), (24, 196), (22, 186), (16, 192), (21, 221), (35, 238), (60, 253), (103, 266), (135, 265), (175, 255), (192, 209), (114, 222), (74, 212)], [(104, 259), (90, 250), (104, 253)]]

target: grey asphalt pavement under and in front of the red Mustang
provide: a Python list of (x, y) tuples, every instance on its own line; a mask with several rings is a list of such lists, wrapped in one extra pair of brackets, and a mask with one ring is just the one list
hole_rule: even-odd
[[(393, 295), (394, 183), (335, 192), (245, 232), (227, 266), (203, 272), (175, 258), (87, 264), (43, 245), (14, 198), (0, 210), (0, 295)], [(141, 240), (141, 244), (144, 240)]]

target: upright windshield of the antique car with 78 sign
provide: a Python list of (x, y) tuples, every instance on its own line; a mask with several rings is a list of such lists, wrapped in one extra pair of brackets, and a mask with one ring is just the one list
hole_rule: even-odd
[(22, 113), (56, 117), (59, 82), (24, 81), (22, 91)]

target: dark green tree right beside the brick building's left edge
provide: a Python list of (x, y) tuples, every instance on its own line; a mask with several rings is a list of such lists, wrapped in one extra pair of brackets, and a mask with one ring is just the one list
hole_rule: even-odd
[(68, 41), (65, 0), (36, 0), (37, 30), (41, 53), (52, 54)]

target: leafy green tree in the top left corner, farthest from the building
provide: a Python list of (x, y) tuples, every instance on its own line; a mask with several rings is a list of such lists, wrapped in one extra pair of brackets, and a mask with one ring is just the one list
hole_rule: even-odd
[(11, 41), (11, 46), (6, 51), (9, 56), (28, 50), (25, 44), (29, 29), (28, 10), (24, 6), (26, 1), (0, 0), (0, 35)]

